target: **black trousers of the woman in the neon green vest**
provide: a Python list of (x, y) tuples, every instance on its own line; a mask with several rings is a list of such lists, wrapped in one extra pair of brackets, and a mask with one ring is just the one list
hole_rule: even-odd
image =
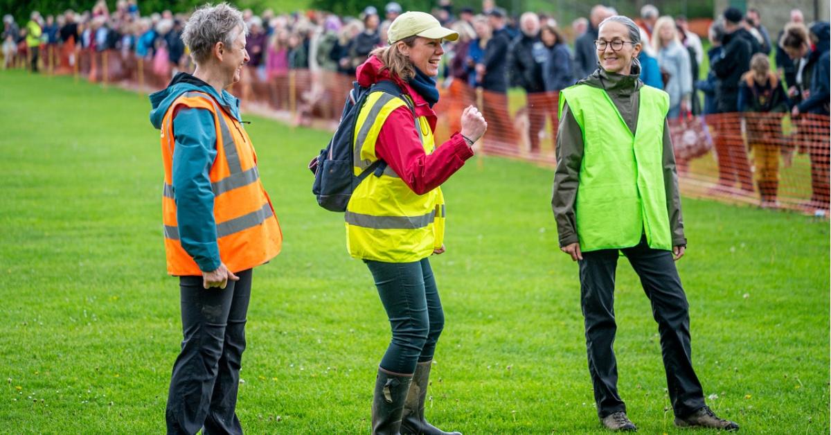
[[(690, 316), (684, 289), (672, 254), (653, 250), (646, 239), (621, 250), (641, 278), (643, 291), (652, 302), (652, 316), (661, 334), (661, 356), (666, 386), (676, 416), (686, 417), (702, 408), (704, 393), (692, 369)], [(618, 250), (584, 252), (580, 260), (580, 302), (586, 327), (588, 372), (594, 387), (597, 415), (626, 411), (617, 394), (617, 360), (614, 348), (614, 291)]]

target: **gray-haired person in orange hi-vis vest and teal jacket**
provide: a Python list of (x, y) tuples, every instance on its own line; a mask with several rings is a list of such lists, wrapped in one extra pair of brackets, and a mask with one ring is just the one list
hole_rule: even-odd
[(248, 62), (242, 13), (199, 7), (182, 38), (196, 63), (150, 96), (161, 131), (168, 273), (179, 277), (184, 339), (165, 410), (168, 433), (242, 433), (235, 413), (252, 269), (283, 240), (259, 180), (239, 100)]

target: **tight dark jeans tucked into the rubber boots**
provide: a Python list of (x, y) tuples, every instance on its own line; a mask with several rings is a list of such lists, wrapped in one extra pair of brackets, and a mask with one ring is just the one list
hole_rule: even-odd
[(365, 263), (392, 328), (392, 341), (381, 359), (381, 368), (391, 373), (415, 373), (416, 363), (433, 359), (435, 343), (445, 327), (445, 312), (430, 261)]

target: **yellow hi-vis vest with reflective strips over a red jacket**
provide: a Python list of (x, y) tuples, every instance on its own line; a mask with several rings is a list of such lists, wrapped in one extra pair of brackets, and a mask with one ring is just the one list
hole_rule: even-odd
[[(360, 174), (374, 161), (378, 133), (387, 116), (406, 102), (385, 92), (366, 97), (355, 126), (353, 170)], [(425, 116), (416, 118), (424, 151), (435, 150)], [(419, 261), (441, 247), (445, 238), (445, 199), (440, 188), (416, 195), (390, 166), (381, 176), (367, 176), (352, 191), (345, 214), (347, 250), (363, 260), (387, 263)]]

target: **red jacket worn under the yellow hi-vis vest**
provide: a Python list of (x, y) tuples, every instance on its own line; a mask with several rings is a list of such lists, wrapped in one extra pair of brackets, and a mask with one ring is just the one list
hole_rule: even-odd
[[(425, 116), (435, 134), (435, 111), (407, 82), (391, 77), (388, 70), (381, 71), (383, 66), (381, 60), (373, 56), (358, 67), (356, 75), (361, 87), (369, 87), (381, 80), (396, 82), (415, 103), (416, 116)], [(440, 186), (473, 156), (473, 150), (458, 131), (449, 141), (437, 146), (432, 154), (426, 154), (416, 130), (416, 120), (407, 106), (399, 107), (386, 118), (378, 133), (375, 150), (376, 156), (386, 161), (417, 195)]]

